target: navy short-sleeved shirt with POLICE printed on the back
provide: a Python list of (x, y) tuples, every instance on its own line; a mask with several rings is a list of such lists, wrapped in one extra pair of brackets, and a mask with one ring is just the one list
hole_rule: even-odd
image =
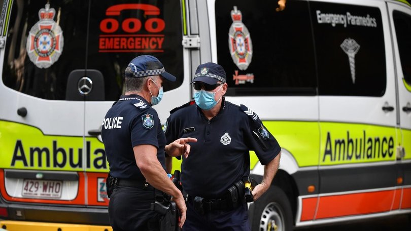
[(156, 110), (139, 95), (121, 96), (109, 109), (101, 127), (110, 174), (115, 178), (145, 180), (134, 158), (133, 147), (157, 147), (157, 159), (165, 169), (165, 136)]

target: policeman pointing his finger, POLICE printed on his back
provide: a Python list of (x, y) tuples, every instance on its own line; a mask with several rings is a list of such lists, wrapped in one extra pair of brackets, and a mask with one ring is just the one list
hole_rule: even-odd
[(158, 228), (159, 215), (150, 210), (153, 187), (173, 196), (181, 213), (179, 226), (186, 219), (181, 191), (167, 177), (165, 154), (182, 155), (190, 151), (179, 139), (166, 144), (160, 120), (152, 105), (163, 96), (163, 80), (175, 81), (161, 62), (149, 55), (131, 60), (125, 69), (125, 95), (109, 109), (102, 124), (114, 190), (110, 197), (109, 218), (114, 230), (151, 230)]

